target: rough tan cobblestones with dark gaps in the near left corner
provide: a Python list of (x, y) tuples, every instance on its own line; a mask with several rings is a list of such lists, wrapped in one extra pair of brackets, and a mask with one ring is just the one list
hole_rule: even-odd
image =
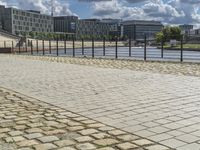
[(0, 88), (1, 150), (169, 150), (168, 147)]

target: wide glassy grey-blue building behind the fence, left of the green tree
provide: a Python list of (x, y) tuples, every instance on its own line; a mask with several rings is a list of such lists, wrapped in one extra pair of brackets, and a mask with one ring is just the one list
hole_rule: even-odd
[(122, 22), (122, 34), (132, 40), (155, 38), (155, 34), (160, 32), (163, 28), (161, 22), (158, 21), (144, 21), (144, 20), (129, 20)]

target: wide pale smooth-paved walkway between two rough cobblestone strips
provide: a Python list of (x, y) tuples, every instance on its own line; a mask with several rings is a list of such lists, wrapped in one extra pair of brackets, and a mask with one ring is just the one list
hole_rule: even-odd
[(189, 69), (188, 64), (169, 63), (183, 66), (181, 71), (169, 67), (170, 75), (162, 72), (167, 63), (150, 62), (152, 72), (160, 74), (150, 68), (140, 72), (73, 65), (72, 58), (58, 58), (65, 63), (57, 63), (22, 57), (0, 56), (0, 85), (171, 148), (200, 149), (200, 78), (179, 75), (190, 75), (196, 67), (196, 76), (198, 65)]

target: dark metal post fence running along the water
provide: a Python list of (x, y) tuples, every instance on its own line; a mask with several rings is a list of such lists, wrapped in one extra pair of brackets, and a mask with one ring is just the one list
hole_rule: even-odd
[[(71, 56), (71, 57), (96, 57), (115, 59), (139, 59), (156, 61), (189, 61), (200, 62), (200, 51), (198, 49), (185, 49), (183, 40), (176, 47), (166, 47), (164, 42), (157, 45), (149, 44), (149, 39), (144, 37), (134, 47), (132, 40), (119, 41), (76, 41), (64, 40), (28, 40), (28, 41), (0, 41), (0, 48), (10, 48), (13, 54), (23, 55), (47, 55), (47, 56)], [(155, 42), (155, 41), (153, 41)]]

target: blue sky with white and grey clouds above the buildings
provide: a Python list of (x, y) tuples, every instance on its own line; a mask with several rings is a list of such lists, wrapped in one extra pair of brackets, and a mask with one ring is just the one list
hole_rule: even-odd
[[(51, 12), (51, 0), (0, 0), (0, 4)], [(54, 0), (56, 15), (200, 24), (200, 0)]]

